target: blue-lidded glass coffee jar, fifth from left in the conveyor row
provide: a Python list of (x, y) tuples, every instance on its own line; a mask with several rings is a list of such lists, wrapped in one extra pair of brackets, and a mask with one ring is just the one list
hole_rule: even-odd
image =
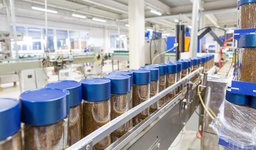
[[(129, 110), (130, 76), (109, 74), (103, 78), (111, 81), (111, 120), (113, 120)], [(112, 142), (126, 134), (127, 130), (127, 123), (125, 123), (112, 132)]]

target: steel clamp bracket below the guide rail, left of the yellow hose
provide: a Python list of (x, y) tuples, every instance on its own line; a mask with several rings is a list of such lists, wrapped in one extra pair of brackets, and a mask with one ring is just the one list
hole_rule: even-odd
[(187, 84), (187, 94), (186, 94), (186, 99), (184, 99), (181, 102), (181, 112), (183, 113), (185, 110), (188, 109), (188, 105), (190, 105), (192, 103), (192, 96), (193, 96), (193, 92), (192, 92), (192, 87), (193, 87), (193, 83), (190, 81)]

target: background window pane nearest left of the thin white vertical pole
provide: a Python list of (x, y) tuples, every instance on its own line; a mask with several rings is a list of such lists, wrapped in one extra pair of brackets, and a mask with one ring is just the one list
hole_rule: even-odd
[(42, 50), (41, 48), (41, 29), (28, 28), (28, 35), (32, 39), (29, 43), (30, 50)]

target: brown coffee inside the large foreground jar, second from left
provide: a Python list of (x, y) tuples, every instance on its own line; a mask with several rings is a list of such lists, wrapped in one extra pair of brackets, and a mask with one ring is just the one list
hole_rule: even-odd
[(24, 124), (25, 150), (64, 150), (65, 121), (50, 125)]

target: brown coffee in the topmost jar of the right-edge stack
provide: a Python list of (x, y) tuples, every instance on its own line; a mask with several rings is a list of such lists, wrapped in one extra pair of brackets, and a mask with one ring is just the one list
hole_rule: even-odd
[(240, 6), (240, 29), (256, 28), (256, 2)]

